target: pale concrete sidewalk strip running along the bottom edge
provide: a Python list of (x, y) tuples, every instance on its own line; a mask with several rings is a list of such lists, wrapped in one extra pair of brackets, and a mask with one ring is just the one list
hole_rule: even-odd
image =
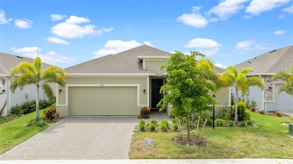
[(1, 164), (293, 164), (293, 159), (1, 160)]

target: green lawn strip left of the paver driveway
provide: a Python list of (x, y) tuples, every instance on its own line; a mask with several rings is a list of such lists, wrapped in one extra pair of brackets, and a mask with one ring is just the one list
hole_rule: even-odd
[[(42, 111), (44, 111), (44, 109), (40, 110), (40, 114), (43, 114)], [(49, 126), (53, 125), (64, 117), (57, 118), (53, 121), (47, 121), (47, 126), (44, 127), (25, 126), (25, 124), (32, 118), (35, 118), (35, 112), (21, 116), (14, 121), (0, 124), (0, 154), (12, 149), (14, 146), (24, 142), (42, 130), (47, 129)]]

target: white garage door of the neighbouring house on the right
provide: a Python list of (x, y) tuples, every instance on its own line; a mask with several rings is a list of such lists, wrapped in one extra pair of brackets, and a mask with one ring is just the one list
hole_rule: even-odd
[(284, 84), (275, 84), (275, 110), (293, 110), (293, 98), (285, 92), (277, 93), (277, 89)]

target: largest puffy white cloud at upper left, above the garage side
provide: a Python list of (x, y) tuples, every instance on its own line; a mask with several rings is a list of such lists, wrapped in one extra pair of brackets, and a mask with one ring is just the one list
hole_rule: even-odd
[(86, 35), (100, 35), (103, 31), (110, 32), (114, 29), (114, 27), (111, 27), (100, 30), (96, 29), (96, 25), (78, 25), (80, 23), (88, 22), (90, 22), (88, 18), (71, 15), (70, 18), (65, 20), (65, 22), (58, 23), (57, 25), (51, 27), (51, 33), (62, 38), (83, 38)]

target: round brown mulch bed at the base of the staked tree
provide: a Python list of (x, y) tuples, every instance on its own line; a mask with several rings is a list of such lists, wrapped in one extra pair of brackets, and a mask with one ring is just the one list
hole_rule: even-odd
[(194, 135), (190, 135), (190, 142), (187, 141), (187, 136), (183, 136), (183, 139), (181, 136), (176, 136), (173, 138), (173, 141), (177, 144), (180, 144), (182, 146), (207, 146), (208, 141), (205, 138), (201, 138), (199, 140), (199, 137), (195, 137)]

